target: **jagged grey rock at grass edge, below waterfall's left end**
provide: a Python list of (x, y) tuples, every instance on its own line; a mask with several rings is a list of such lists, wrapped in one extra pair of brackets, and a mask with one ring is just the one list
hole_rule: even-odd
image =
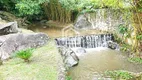
[(65, 63), (66, 68), (78, 65), (79, 58), (73, 50), (66, 47), (60, 47), (59, 51), (63, 57), (63, 62)]

